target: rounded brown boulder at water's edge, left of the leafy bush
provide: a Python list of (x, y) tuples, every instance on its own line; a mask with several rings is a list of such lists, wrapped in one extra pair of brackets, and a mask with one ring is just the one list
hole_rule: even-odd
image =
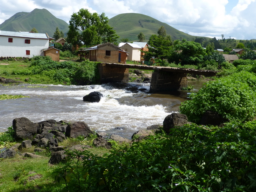
[(187, 116), (179, 113), (172, 113), (166, 116), (163, 122), (164, 130), (170, 133), (170, 129), (187, 124)]

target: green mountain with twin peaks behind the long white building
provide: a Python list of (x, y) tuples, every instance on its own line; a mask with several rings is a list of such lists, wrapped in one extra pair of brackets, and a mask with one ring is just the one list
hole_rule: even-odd
[(38, 33), (54, 35), (56, 27), (66, 36), (69, 31), (69, 24), (62, 19), (56, 18), (47, 9), (34, 9), (30, 13), (19, 12), (0, 24), (1, 31), (31, 31), (36, 28)]

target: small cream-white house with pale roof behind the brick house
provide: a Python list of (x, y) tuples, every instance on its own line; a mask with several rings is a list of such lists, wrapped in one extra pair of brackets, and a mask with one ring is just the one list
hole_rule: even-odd
[(119, 47), (129, 53), (130, 61), (140, 61), (141, 47), (133, 43), (119, 43)]

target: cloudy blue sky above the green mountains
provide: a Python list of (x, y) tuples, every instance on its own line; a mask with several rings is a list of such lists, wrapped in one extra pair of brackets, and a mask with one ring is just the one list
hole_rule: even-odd
[(0, 0), (0, 24), (17, 12), (47, 9), (69, 23), (85, 8), (109, 19), (141, 13), (193, 36), (256, 39), (256, 0)]

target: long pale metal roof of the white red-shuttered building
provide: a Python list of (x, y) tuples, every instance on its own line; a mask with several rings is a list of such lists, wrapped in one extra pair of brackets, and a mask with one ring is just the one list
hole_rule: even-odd
[(14, 31), (0, 31), (0, 36), (49, 39), (45, 33), (29, 33), (29, 32), (14, 32)]

